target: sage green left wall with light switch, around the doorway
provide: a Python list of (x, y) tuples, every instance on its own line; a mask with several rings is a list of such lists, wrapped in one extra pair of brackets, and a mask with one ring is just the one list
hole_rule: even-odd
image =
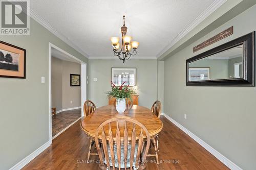
[(0, 39), (27, 50), (26, 79), (0, 78), (0, 169), (9, 169), (49, 141), (49, 42), (88, 59), (33, 19), (30, 36)]

